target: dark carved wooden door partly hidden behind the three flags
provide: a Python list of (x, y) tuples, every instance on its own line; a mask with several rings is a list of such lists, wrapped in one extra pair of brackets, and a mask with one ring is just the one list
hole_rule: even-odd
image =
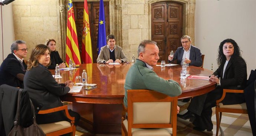
[[(98, 21), (99, 21), (99, 1), (97, 2), (87, 2), (88, 4), (88, 15), (91, 30), (91, 40), (92, 40), (92, 57), (93, 63), (96, 63), (98, 57), (97, 50), (97, 36), (98, 36)], [(73, 7), (75, 10), (75, 21), (76, 30), (78, 35), (79, 52), (82, 52), (82, 35), (83, 35), (83, 6), (84, 2), (73, 2)], [(109, 2), (104, 2), (105, 20), (106, 20), (106, 35), (109, 35)]]

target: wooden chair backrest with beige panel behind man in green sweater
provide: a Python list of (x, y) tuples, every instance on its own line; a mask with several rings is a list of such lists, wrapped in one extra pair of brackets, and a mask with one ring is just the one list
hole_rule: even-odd
[(150, 90), (127, 90), (128, 133), (131, 128), (177, 129), (177, 98)]

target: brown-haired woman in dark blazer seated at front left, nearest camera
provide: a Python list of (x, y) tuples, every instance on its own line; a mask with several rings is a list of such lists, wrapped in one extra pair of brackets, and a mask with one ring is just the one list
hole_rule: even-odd
[[(58, 84), (50, 71), (46, 68), (50, 64), (50, 48), (46, 45), (36, 45), (27, 64), (27, 72), (24, 76), (24, 89), (29, 92), (29, 97), (41, 103), (42, 110), (62, 106), (59, 96), (67, 94), (73, 87), (71, 80), (64, 84)], [(79, 114), (69, 110), (69, 114), (75, 117), (75, 125), (79, 121)], [(52, 123), (68, 120), (63, 111), (50, 114), (38, 114), (38, 124)]]

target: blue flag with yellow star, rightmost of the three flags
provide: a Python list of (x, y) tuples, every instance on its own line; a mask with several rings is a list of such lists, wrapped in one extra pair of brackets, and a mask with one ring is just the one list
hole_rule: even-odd
[(97, 48), (99, 52), (101, 47), (106, 45), (106, 28), (105, 28), (105, 13), (104, 13), (104, 3), (103, 0), (99, 3), (99, 27), (98, 27), (98, 39), (97, 39)]

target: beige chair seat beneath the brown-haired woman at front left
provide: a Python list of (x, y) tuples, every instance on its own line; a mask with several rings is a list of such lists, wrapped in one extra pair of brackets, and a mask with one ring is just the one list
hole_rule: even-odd
[(65, 129), (71, 127), (71, 124), (68, 121), (59, 121), (54, 123), (48, 123), (48, 124), (40, 124), (39, 125), (44, 133), (51, 133), (55, 132), (60, 129)]

